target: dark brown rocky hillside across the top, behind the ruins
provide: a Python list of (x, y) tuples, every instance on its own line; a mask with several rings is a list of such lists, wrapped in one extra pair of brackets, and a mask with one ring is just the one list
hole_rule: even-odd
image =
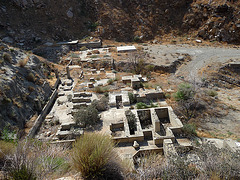
[(2, 0), (0, 37), (25, 49), (89, 34), (137, 41), (197, 32), (239, 43), (239, 12), (236, 0)]

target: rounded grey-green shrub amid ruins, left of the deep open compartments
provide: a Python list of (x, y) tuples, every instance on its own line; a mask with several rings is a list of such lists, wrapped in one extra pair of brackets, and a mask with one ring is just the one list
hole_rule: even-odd
[(79, 111), (74, 114), (74, 120), (76, 124), (83, 127), (93, 126), (99, 122), (98, 110), (92, 105), (79, 109)]

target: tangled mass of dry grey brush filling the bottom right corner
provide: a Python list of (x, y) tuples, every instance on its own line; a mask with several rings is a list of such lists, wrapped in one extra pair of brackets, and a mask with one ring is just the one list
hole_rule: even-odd
[(240, 152), (203, 144), (192, 151), (178, 149), (178, 155), (158, 159), (156, 155), (136, 161), (127, 179), (240, 179)]

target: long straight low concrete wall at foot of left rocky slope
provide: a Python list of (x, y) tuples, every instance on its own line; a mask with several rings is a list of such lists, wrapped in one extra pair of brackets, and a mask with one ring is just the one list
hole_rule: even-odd
[(44, 121), (47, 113), (49, 112), (50, 108), (52, 107), (53, 103), (55, 102), (57, 95), (58, 95), (58, 91), (57, 91), (57, 89), (55, 89), (53, 91), (48, 103), (44, 106), (41, 114), (36, 119), (33, 127), (31, 128), (29, 134), (27, 135), (27, 137), (34, 138), (34, 136), (36, 135), (37, 131), (39, 130), (42, 122)]

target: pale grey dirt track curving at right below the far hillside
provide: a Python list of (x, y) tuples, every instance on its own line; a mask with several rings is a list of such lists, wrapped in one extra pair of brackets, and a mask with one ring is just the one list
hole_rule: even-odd
[(150, 56), (154, 56), (154, 61), (158, 61), (159, 64), (164, 64), (166, 58), (171, 54), (189, 54), (192, 61), (183, 64), (175, 74), (184, 77), (187, 81), (195, 79), (200, 82), (202, 75), (199, 74), (199, 71), (208, 64), (225, 63), (229, 59), (240, 58), (238, 48), (189, 45), (150, 45), (147, 48)]

